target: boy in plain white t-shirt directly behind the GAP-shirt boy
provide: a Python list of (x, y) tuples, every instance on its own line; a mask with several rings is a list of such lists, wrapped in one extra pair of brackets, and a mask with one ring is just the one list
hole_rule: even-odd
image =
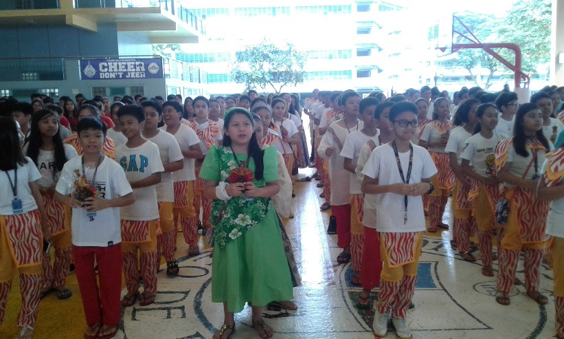
[(174, 206), (174, 184), (172, 173), (179, 171), (184, 166), (183, 155), (178, 142), (174, 137), (159, 129), (158, 125), (163, 118), (163, 108), (155, 100), (145, 100), (141, 103), (145, 113), (145, 124), (142, 137), (159, 146), (159, 155), (163, 163), (164, 172), (157, 188), (157, 202), (159, 204), (159, 226), (162, 234), (157, 236), (157, 251), (166, 260), (166, 274), (175, 276), (179, 272), (178, 263), (174, 259), (174, 245), (177, 237), (177, 228), (174, 227), (172, 208)]

